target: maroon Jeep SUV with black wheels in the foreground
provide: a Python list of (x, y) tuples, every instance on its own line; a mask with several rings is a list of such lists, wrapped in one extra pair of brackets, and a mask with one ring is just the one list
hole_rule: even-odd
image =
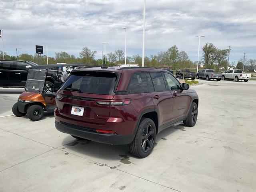
[(170, 72), (148, 67), (73, 70), (56, 94), (55, 126), (77, 139), (128, 144), (148, 156), (156, 134), (180, 121), (194, 126), (198, 96)]

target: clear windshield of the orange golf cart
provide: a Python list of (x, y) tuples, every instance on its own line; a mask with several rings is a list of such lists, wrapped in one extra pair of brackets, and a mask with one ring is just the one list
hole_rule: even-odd
[(42, 94), (44, 90), (45, 78), (46, 70), (29, 69), (25, 90)]

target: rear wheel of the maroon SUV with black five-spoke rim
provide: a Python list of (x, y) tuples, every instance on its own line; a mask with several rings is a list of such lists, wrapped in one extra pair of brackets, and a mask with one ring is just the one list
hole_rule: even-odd
[(128, 144), (132, 155), (144, 158), (148, 156), (156, 140), (156, 125), (150, 118), (142, 118), (132, 143)]

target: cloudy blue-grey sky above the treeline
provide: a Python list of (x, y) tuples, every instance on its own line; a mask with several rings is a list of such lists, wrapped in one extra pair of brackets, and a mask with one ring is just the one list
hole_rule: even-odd
[[(145, 54), (157, 54), (176, 45), (197, 60), (201, 47), (212, 42), (217, 48), (232, 46), (231, 62), (246, 52), (256, 59), (255, 0), (146, 0)], [(65, 51), (79, 56), (84, 46), (101, 58), (102, 42), (107, 52), (124, 50), (142, 55), (143, 0), (1, 0), (0, 27), (5, 52), (34, 54), (35, 45), (48, 44), (48, 55)], [(2, 42), (0, 43), (2, 50)], [(202, 51), (201, 51), (202, 53)]]

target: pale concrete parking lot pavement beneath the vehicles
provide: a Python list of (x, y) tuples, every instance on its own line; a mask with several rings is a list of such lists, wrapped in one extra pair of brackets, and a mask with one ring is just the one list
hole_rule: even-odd
[(196, 126), (160, 132), (144, 159), (58, 132), (52, 114), (9, 116), (22, 89), (1, 88), (0, 192), (255, 192), (256, 81), (199, 81)]

